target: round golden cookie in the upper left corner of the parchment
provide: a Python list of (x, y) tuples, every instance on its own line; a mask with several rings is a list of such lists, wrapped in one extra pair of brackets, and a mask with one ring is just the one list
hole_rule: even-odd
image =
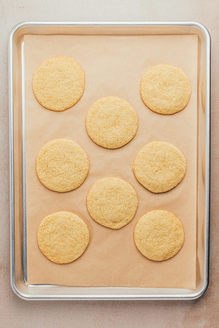
[(84, 92), (85, 75), (74, 59), (56, 56), (39, 65), (33, 74), (33, 93), (52, 111), (64, 111), (77, 103)]

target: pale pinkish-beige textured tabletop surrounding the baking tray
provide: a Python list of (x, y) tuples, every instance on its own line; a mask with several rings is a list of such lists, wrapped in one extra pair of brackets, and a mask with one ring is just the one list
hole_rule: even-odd
[[(218, 327), (218, 12), (217, 0), (0, 0), (0, 322), (4, 327)], [(13, 294), (10, 286), (7, 38), (15, 24), (32, 20), (193, 20), (208, 28), (212, 39), (210, 283), (200, 299), (25, 301)]]

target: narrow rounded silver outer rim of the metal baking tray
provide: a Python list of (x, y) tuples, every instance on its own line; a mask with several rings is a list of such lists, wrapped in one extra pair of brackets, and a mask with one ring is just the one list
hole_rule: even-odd
[[(205, 277), (202, 287), (198, 292), (191, 294), (160, 294), (160, 295), (131, 295), (131, 294), (102, 294), (102, 295), (46, 295), (46, 296), (33, 296), (25, 294), (19, 290), (15, 282), (15, 240), (14, 240), (14, 144), (13, 144), (13, 37), (16, 31), (24, 27), (41, 27), (41, 26), (193, 26), (203, 32), (206, 40), (206, 175), (205, 175)], [(209, 223), (210, 223), (210, 34), (207, 28), (201, 23), (195, 21), (25, 21), (15, 25), (8, 37), (8, 56), (9, 56), (9, 175), (10, 175), (10, 267), (11, 267), (11, 288), (15, 295), (26, 300), (36, 299), (72, 299), (72, 300), (129, 300), (129, 299), (196, 299), (201, 297), (208, 289), (209, 284)]]

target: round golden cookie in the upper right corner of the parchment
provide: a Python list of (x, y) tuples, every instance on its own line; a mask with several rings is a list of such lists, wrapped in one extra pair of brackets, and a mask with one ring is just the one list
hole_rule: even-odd
[(141, 97), (145, 105), (160, 114), (173, 114), (184, 109), (189, 101), (191, 86), (180, 68), (160, 64), (142, 76)]

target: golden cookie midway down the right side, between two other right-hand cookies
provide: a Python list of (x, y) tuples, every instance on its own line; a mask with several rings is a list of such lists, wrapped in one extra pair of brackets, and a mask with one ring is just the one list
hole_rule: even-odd
[(174, 188), (183, 179), (186, 160), (174, 145), (154, 141), (137, 154), (133, 172), (146, 189), (152, 193), (163, 193)]

